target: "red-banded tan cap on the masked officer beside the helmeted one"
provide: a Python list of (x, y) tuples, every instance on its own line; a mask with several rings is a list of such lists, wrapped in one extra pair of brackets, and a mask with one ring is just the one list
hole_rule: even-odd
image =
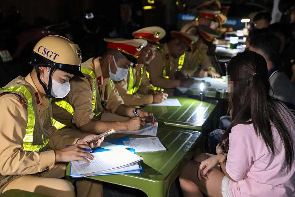
[(107, 49), (120, 51), (130, 62), (133, 62), (134, 64), (138, 64), (136, 59), (138, 58), (138, 52), (148, 44), (148, 41), (141, 38), (132, 40), (123, 38), (104, 38), (104, 41), (108, 42)]

